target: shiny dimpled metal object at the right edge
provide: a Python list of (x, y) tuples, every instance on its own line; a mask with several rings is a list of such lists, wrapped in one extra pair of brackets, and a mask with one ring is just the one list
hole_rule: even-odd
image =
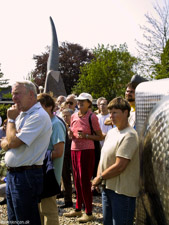
[(140, 139), (140, 195), (136, 224), (169, 224), (169, 79), (136, 88)]

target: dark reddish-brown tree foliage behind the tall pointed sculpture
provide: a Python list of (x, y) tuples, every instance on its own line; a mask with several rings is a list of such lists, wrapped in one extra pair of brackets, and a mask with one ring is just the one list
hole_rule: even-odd
[[(47, 60), (49, 57), (49, 48), (42, 55), (35, 55), (35, 70), (33, 70), (28, 79), (34, 81), (37, 86), (45, 84), (47, 73)], [(93, 58), (88, 49), (84, 49), (79, 44), (63, 42), (59, 47), (59, 71), (61, 73), (67, 94), (71, 93), (72, 87), (79, 79), (80, 67), (89, 63)]]

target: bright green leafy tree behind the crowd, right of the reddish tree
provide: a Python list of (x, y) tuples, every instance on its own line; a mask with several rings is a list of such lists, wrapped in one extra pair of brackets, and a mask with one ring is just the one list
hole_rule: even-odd
[(108, 100), (123, 96), (126, 84), (134, 75), (133, 66), (137, 64), (137, 59), (130, 55), (126, 44), (119, 48), (99, 45), (93, 54), (94, 59), (81, 67), (73, 92), (88, 92), (93, 98), (104, 96)]

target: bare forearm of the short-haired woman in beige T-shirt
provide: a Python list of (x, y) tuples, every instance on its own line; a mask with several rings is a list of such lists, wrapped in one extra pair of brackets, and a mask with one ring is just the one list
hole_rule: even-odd
[(122, 157), (116, 157), (116, 162), (104, 170), (101, 174), (97, 173), (97, 177), (92, 182), (92, 186), (97, 186), (100, 184), (100, 176), (102, 176), (103, 180), (107, 180), (109, 178), (118, 176), (121, 174), (126, 167), (128, 166), (130, 160)]

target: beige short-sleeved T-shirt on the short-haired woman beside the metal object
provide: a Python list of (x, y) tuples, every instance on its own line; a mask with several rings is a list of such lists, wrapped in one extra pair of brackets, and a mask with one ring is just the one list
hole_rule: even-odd
[(116, 157), (129, 159), (126, 169), (118, 176), (104, 180), (106, 188), (118, 194), (136, 197), (139, 191), (139, 149), (137, 132), (132, 127), (119, 131), (117, 127), (108, 131), (101, 150), (100, 169), (112, 166)]

